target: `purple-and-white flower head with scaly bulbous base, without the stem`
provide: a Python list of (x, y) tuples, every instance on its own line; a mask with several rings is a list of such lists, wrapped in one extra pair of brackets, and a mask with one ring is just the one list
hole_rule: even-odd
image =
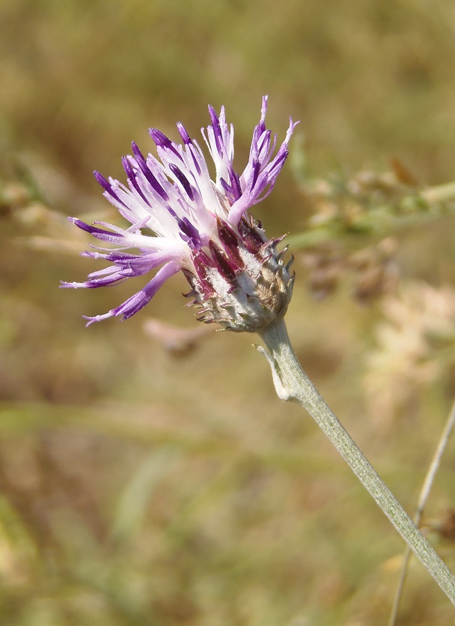
[(144, 157), (133, 143), (133, 154), (122, 159), (128, 186), (94, 172), (106, 198), (131, 226), (99, 221), (88, 225), (69, 218), (110, 246), (94, 246), (96, 250), (83, 255), (110, 265), (90, 273), (85, 282), (63, 282), (62, 287), (104, 287), (159, 269), (122, 305), (86, 318), (88, 325), (113, 316), (131, 317), (179, 271), (190, 284), (187, 295), (201, 309), (201, 321), (253, 331), (286, 312), (293, 277), (283, 252), (276, 250), (282, 238), (267, 240), (247, 210), (272, 191), (296, 124), (290, 120), (286, 138), (274, 154), (276, 136), (265, 127), (267, 97), (263, 97), (249, 160), (238, 175), (233, 168), (233, 127), (226, 124), (224, 107), (219, 116), (211, 106), (208, 110), (211, 124), (201, 133), (215, 164), (215, 180), (201, 147), (181, 123), (179, 144), (150, 129), (159, 159)]

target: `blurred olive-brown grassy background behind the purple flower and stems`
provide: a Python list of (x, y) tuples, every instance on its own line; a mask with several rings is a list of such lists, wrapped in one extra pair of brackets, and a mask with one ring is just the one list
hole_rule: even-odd
[[(113, 219), (94, 168), (210, 103), (240, 169), (267, 93), (279, 138), (301, 120), (255, 211), (290, 233), (292, 341), (412, 512), (455, 393), (453, 207), (428, 190), (455, 179), (454, 3), (3, 0), (0, 24), (0, 623), (383, 625), (402, 541), (251, 337), (199, 336), (179, 277), (88, 329), (134, 287), (57, 287), (94, 268), (66, 216)], [(454, 464), (424, 520), (452, 569)], [(413, 563), (399, 625), (450, 623)]]

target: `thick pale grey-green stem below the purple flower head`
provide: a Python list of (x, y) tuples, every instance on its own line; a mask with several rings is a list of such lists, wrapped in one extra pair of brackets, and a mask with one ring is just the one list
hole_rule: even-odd
[(288, 331), (283, 319), (278, 319), (260, 332), (267, 351), (265, 354), (272, 367), (276, 393), (281, 400), (293, 400), (303, 406), (322, 431), (331, 440), (351, 470), (356, 474), (374, 501), (386, 513), (417, 559), (427, 568), (442, 591), (455, 604), (455, 577), (436, 554), (435, 550), (415, 526), (411, 517), (399, 504), (386, 483), (379, 477), (370, 462), (358, 449), (354, 440), (342, 427), (326, 401), (306, 376), (292, 350)]

